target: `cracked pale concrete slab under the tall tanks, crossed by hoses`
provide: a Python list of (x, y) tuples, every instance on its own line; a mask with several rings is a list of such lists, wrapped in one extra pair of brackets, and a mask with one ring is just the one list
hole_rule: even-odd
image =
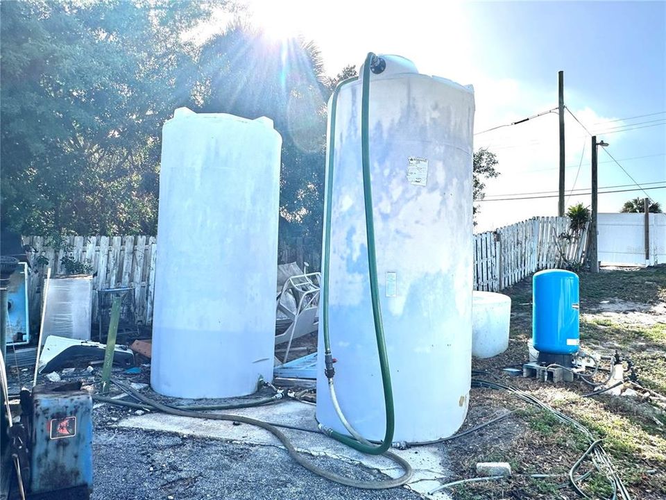
[[(298, 401), (285, 401), (269, 406), (231, 410), (228, 413), (244, 415), (266, 422), (289, 424), (316, 430), (315, 406)], [(262, 428), (246, 424), (234, 425), (231, 422), (216, 420), (176, 417), (164, 413), (147, 413), (140, 417), (128, 417), (115, 426), (177, 433), (181, 436), (216, 439), (239, 444), (283, 448), (282, 444), (271, 433), (264, 431)], [(282, 431), (292, 440), (298, 451), (313, 456), (334, 458), (350, 465), (362, 465), (390, 477), (398, 477), (401, 474), (400, 468), (390, 460), (364, 455), (321, 433), (307, 433), (290, 429), (282, 429)], [(451, 476), (446, 467), (447, 457), (441, 447), (432, 445), (407, 450), (393, 450), (393, 452), (407, 460), (414, 469), (413, 477), (407, 485), (409, 490), (435, 500), (450, 499), (445, 492), (427, 494), (442, 482), (446, 482)], [(285, 460), (291, 460), (287, 455), (284, 457)]]

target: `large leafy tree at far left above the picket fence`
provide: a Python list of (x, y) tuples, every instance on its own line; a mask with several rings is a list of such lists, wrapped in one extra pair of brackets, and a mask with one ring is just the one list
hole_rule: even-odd
[(196, 83), (181, 35), (221, 4), (0, 3), (3, 225), (155, 232), (160, 128)]

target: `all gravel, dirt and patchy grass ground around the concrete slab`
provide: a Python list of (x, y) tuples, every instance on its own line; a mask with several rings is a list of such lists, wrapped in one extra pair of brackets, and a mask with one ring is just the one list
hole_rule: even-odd
[[(629, 488), (633, 499), (664, 499), (666, 399), (660, 398), (658, 394), (666, 394), (666, 267), (614, 269), (599, 274), (581, 274), (580, 278), (581, 346), (604, 355), (612, 355), (617, 349), (622, 356), (631, 359), (638, 383), (644, 388), (628, 383), (625, 385), (628, 391), (622, 396), (605, 393), (583, 398), (581, 395), (590, 392), (591, 388), (580, 381), (542, 383), (503, 372), (504, 367), (520, 368), (527, 359), (527, 342), (531, 338), (531, 278), (504, 290), (512, 299), (509, 349), (488, 360), (474, 360), (472, 368), (475, 377), (509, 383), (577, 419), (595, 437), (604, 439), (604, 448), (610, 453), (615, 470)], [(304, 356), (315, 350), (316, 335), (309, 335), (294, 342), (289, 358)], [(122, 369), (115, 369), (115, 375), (135, 384), (147, 384), (148, 360), (142, 361), (144, 365), (140, 374), (130, 376)], [(604, 363), (606, 365), (602, 366), (606, 367), (609, 362)], [(28, 378), (31, 372), (31, 369), (25, 369), (22, 378)], [(86, 384), (96, 386), (97, 375), (96, 372), (85, 372), (84, 367), (80, 367), (64, 378), (83, 378)], [(599, 372), (597, 381), (605, 377), (606, 372)], [(19, 381), (14, 379), (13, 382), (18, 385)], [(139, 387), (156, 397), (148, 387), (137, 385), (136, 388)], [(580, 498), (568, 485), (567, 472), (586, 450), (589, 441), (576, 429), (561, 424), (551, 413), (524, 403), (509, 392), (475, 387), (470, 394), (470, 410), (461, 432), (506, 412), (511, 412), (511, 415), (479, 431), (439, 444), (438, 447), (441, 447), (442, 456), (447, 457), (447, 469), (454, 474), (443, 482), (477, 476), (475, 464), (481, 461), (509, 462), (513, 476), (502, 481), (466, 483), (452, 487), (447, 490), (452, 497), (456, 500)], [(266, 487), (266, 478), (262, 479), (264, 486), (259, 490), (244, 490), (244, 482), (249, 484), (253, 479), (245, 478), (245, 473), (241, 474), (241, 471), (253, 467), (250, 467), (250, 462), (248, 467), (233, 465), (238, 453), (241, 456), (254, 454), (259, 460), (260, 453), (252, 451), (257, 448), (246, 446), (238, 449), (239, 445), (236, 444), (225, 444), (220, 448), (217, 444), (212, 446), (203, 440), (176, 443), (179, 438), (170, 435), (137, 433), (117, 428), (119, 421), (135, 414), (136, 410), (130, 408), (96, 406), (95, 498), (114, 497), (123, 487), (127, 488), (126, 498), (215, 498), (220, 493), (215, 487), (219, 485), (216, 470), (217, 464), (221, 462), (226, 464), (222, 469), (228, 473), (232, 470), (238, 473), (237, 477), (233, 474), (230, 476), (223, 497), (263, 497), (262, 487)], [(173, 440), (176, 440), (173, 442), (175, 444), (171, 443)], [(157, 448), (153, 443), (158, 445)], [(278, 457), (283, 452), (271, 449), (270, 453)], [(119, 460), (119, 456), (123, 455), (126, 458)], [(183, 460), (185, 456), (198, 457), (200, 464)], [(157, 488), (151, 479), (151, 475), (157, 474), (153, 462), (159, 462), (159, 467), (170, 467), (160, 472)], [(314, 498), (319, 497), (319, 493), (327, 497), (323, 494), (326, 491), (331, 493), (330, 497), (356, 497), (353, 495), (355, 490), (327, 486), (324, 480), (313, 479), (311, 474), (292, 464), (286, 455), (279, 462), (284, 470), (280, 472), (278, 467), (275, 474), (269, 474), (268, 479), (280, 483), (282, 474), (286, 473), (293, 481), (289, 487), (285, 485), (284, 489), (276, 491), (271, 498)], [(203, 472), (194, 474), (189, 470), (201, 464), (205, 465), (201, 469)], [(583, 461), (581, 473), (591, 469), (590, 460)], [(531, 474), (550, 476), (532, 478)], [(312, 481), (321, 482), (321, 487), (311, 488), (314, 485)], [(582, 482), (582, 487), (592, 499), (608, 498), (612, 494), (603, 474), (590, 475)], [(233, 491), (243, 492), (245, 496), (231, 495)], [(267, 490), (263, 491), (266, 493)], [(364, 498), (384, 497), (373, 496), (371, 493), (364, 492)], [(416, 496), (413, 492), (396, 490), (394, 494), (386, 494), (385, 497)]]

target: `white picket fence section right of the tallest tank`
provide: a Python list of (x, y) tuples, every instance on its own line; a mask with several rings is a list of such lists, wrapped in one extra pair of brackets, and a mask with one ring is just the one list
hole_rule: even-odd
[(499, 292), (541, 269), (577, 267), (585, 256), (588, 225), (568, 217), (533, 217), (474, 236), (475, 290)]

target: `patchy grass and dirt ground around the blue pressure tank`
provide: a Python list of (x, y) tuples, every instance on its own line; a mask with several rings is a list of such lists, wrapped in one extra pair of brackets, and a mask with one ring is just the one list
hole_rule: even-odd
[[(666, 267), (633, 270), (602, 270), (581, 274), (581, 347), (611, 356), (617, 350), (631, 359), (638, 385), (625, 384), (621, 396), (599, 394), (588, 385), (511, 377), (502, 367), (520, 365), (527, 357), (531, 338), (531, 279), (504, 293), (511, 296), (511, 338), (505, 353), (488, 360), (475, 360), (472, 367), (485, 370), (533, 394), (552, 407), (577, 419), (604, 439), (617, 473), (634, 499), (666, 498)], [(610, 367), (606, 361), (603, 367)], [(626, 365), (625, 365), (626, 367)], [(596, 380), (603, 381), (607, 372)], [(475, 476), (480, 460), (508, 461), (518, 474), (560, 474), (551, 478), (515, 475), (502, 483), (486, 482), (459, 487), (460, 499), (574, 499), (565, 474), (586, 450), (589, 442), (573, 428), (559, 423), (552, 414), (522, 403), (511, 394), (472, 389), (472, 405), (515, 410), (508, 420), (477, 433), (465, 446), (454, 444), (452, 463), (460, 478)], [(460, 443), (462, 444), (462, 443)], [(456, 460), (457, 458), (457, 460)], [(583, 462), (591, 468), (589, 460)], [(612, 490), (601, 474), (583, 481), (592, 498), (610, 497)]]

